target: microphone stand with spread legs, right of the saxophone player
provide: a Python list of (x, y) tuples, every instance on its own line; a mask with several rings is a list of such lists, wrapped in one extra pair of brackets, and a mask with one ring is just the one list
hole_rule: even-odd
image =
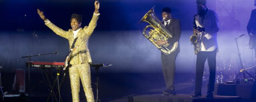
[[(250, 77), (252, 77), (253, 80), (255, 80), (255, 77), (252, 76), (250, 73), (248, 73), (248, 72), (246, 71), (247, 69), (244, 69), (244, 68), (243, 68), (243, 65), (242, 65), (241, 54), (240, 54), (240, 52), (239, 52), (237, 39), (240, 38), (240, 37), (242, 37), (243, 35), (244, 35), (244, 34), (242, 34), (242, 35), (240, 35), (239, 37), (235, 38), (235, 40), (236, 40), (236, 47), (237, 47), (237, 50), (238, 50), (238, 56), (239, 56), (239, 60), (240, 60), (240, 65), (241, 65), (241, 70), (240, 70), (239, 74), (236, 76), (236, 78), (242, 73), (244, 78), (246, 78), (246, 75), (245, 75), (245, 74), (247, 74), (247, 75), (249, 75)], [(254, 67), (255, 67), (255, 66), (254, 66)], [(253, 68), (253, 67), (252, 67), (252, 68)], [(251, 68), (250, 68), (250, 69), (251, 69)], [(233, 81), (235, 81), (236, 78), (235, 78)]]

